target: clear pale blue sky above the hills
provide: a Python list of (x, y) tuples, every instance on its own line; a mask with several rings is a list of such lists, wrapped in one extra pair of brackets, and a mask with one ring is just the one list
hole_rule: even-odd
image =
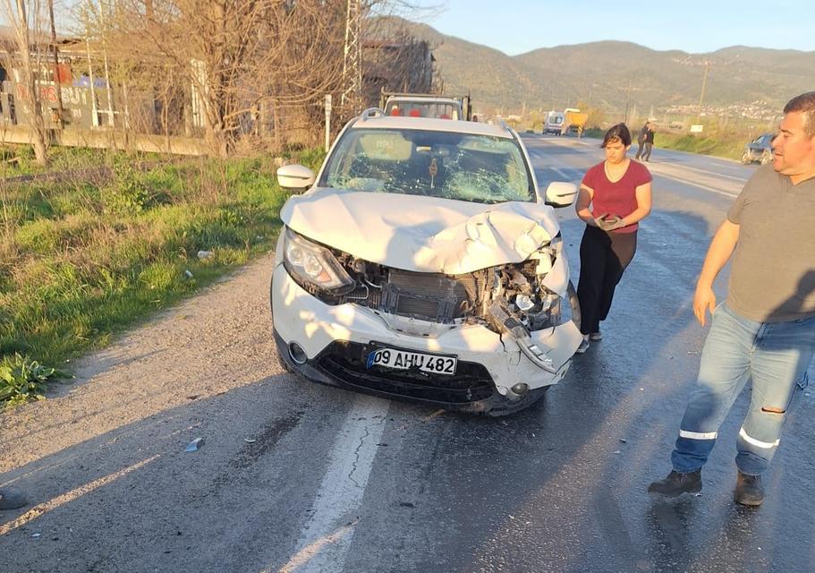
[(728, 46), (815, 51), (813, 0), (419, 0), (422, 21), (516, 56), (604, 39), (692, 54)]

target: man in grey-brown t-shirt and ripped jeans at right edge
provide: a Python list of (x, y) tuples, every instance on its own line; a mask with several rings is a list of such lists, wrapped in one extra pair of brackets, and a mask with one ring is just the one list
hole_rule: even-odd
[[(693, 312), (712, 314), (699, 375), (671, 454), (673, 470), (648, 491), (700, 492), (701, 467), (748, 378), (751, 404), (736, 440), (734, 498), (764, 500), (781, 431), (808, 383), (815, 355), (815, 91), (791, 99), (772, 142), (772, 165), (751, 176), (705, 257)], [(732, 257), (724, 304), (713, 281)]]

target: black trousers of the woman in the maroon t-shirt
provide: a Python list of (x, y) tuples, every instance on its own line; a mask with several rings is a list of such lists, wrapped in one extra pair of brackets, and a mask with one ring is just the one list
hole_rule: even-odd
[(580, 301), (583, 334), (599, 332), (611, 309), (614, 289), (628, 263), (637, 252), (637, 233), (607, 233), (599, 227), (586, 226), (580, 244)]

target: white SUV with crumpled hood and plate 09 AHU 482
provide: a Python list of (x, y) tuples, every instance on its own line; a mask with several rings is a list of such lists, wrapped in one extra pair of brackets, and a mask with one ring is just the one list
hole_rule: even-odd
[[(271, 303), (284, 367), (312, 381), (502, 415), (560, 381), (581, 342), (551, 205), (504, 126), (383, 116), (347, 124), (286, 201)], [(316, 183), (315, 183), (316, 182)]]

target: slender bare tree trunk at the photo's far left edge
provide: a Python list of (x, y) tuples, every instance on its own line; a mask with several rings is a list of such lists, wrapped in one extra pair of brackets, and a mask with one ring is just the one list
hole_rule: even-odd
[(44, 166), (48, 163), (48, 137), (38, 89), (38, 78), (48, 73), (43, 65), (46, 53), (42, 49), (46, 43), (41, 33), (43, 6), (38, 0), (3, 0), (2, 5), (5, 18), (14, 30), (17, 48), (16, 53), (6, 56), (6, 69), (15, 75), (18, 86), (15, 102), (21, 104), (30, 126), (34, 156), (38, 164)]

